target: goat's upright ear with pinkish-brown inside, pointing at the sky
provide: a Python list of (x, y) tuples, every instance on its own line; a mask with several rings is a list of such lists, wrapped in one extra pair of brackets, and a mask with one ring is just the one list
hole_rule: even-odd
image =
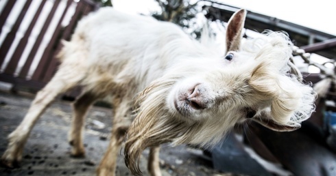
[(228, 20), (228, 27), (226, 28), (226, 53), (229, 50), (239, 50), (245, 17), (246, 10), (241, 9), (235, 12), (230, 20)]

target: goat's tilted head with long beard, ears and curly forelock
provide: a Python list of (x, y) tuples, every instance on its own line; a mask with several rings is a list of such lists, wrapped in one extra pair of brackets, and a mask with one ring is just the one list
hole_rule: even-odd
[[(139, 156), (149, 146), (171, 142), (211, 147), (246, 119), (290, 131), (310, 117), (315, 92), (289, 73), (288, 36), (268, 31), (266, 38), (242, 44), (245, 13), (240, 10), (229, 20), (226, 56), (192, 48), (195, 55), (185, 55), (140, 93), (124, 151), (132, 173), (141, 173)], [(181, 48), (176, 41), (174, 48)]]

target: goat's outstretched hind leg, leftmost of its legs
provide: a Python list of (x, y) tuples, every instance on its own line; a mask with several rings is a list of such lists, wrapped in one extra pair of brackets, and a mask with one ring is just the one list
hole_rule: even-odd
[(73, 72), (71, 70), (73, 68), (61, 67), (50, 82), (42, 90), (38, 91), (23, 121), (8, 136), (8, 147), (1, 158), (5, 166), (13, 167), (21, 161), (23, 147), (40, 115), (42, 115), (47, 106), (53, 102), (59, 93), (71, 89), (82, 79), (78, 74), (71, 74)]

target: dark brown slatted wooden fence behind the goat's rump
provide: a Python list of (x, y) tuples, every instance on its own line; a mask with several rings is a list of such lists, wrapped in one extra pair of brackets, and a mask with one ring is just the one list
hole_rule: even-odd
[(58, 66), (60, 41), (97, 8), (90, 0), (1, 0), (0, 81), (14, 89), (44, 87)]

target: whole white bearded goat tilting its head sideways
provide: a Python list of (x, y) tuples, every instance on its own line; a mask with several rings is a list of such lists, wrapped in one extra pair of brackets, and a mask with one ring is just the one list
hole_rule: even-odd
[(292, 44), (287, 35), (274, 32), (241, 44), (245, 15), (239, 10), (229, 20), (223, 56), (171, 23), (112, 8), (89, 14), (78, 23), (71, 41), (64, 42), (58, 72), (9, 135), (3, 162), (12, 166), (21, 160), (38, 117), (59, 93), (77, 85), (84, 91), (73, 103), (73, 156), (84, 155), (88, 107), (112, 96), (112, 136), (98, 175), (115, 175), (126, 132), (125, 163), (130, 171), (141, 174), (139, 157), (150, 147), (149, 173), (161, 175), (161, 143), (212, 146), (246, 119), (278, 131), (300, 128), (314, 111), (315, 93), (288, 73)]

